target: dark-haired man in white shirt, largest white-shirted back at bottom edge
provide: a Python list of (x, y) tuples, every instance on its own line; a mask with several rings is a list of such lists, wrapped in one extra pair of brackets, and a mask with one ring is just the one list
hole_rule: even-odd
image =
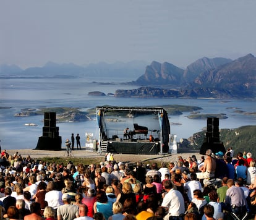
[(161, 204), (161, 206), (168, 208), (168, 214), (164, 216), (164, 219), (179, 219), (179, 216), (185, 213), (184, 198), (181, 192), (173, 189), (171, 180), (164, 181), (163, 185), (165, 190), (168, 192), (164, 196)]

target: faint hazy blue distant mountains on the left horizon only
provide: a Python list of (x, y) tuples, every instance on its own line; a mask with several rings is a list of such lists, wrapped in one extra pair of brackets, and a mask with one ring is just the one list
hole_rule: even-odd
[(107, 76), (109, 80), (120, 75), (129, 75), (137, 78), (143, 74), (147, 66), (145, 61), (115, 62), (106, 64), (89, 64), (79, 66), (76, 64), (56, 64), (47, 62), (43, 67), (29, 67), (21, 69), (18, 66), (6, 64), (0, 65), (0, 78), (77, 78), (77, 77), (102, 77)]

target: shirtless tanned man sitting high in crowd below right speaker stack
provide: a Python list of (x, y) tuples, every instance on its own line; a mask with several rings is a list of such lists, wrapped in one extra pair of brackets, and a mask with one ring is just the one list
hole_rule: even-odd
[(197, 172), (197, 179), (207, 179), (215, 177), (215, 170), (216, 170), (216, 159), (211, 157), (213, 152), (208, 149), (205, 154), (207, 158), (205, 158), (205, 162), (201, 167), (202, 172)]

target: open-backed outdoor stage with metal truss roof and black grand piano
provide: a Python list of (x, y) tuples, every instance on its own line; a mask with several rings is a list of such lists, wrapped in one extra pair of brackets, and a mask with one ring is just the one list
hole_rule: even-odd
[(96, 114), (100, 153), (168, 153), (170, 125), (163, 108), (103, 106), (97, 107)]

